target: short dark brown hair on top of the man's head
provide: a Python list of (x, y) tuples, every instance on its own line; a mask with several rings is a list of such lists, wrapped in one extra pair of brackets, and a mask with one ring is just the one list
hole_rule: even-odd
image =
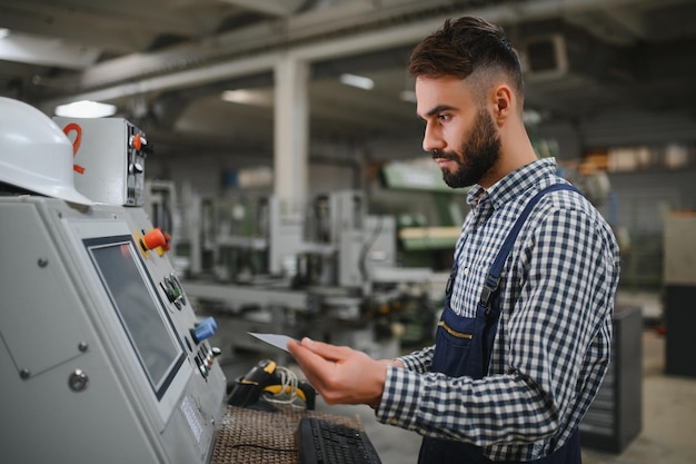
[(448, 19), (426, 37), (411, 52), (408, 71), (411, 77), (466, 79), (477, 71), (505, 72), (519, 97), (523, 77), (519, 57), (503, 28), (481, 18)]

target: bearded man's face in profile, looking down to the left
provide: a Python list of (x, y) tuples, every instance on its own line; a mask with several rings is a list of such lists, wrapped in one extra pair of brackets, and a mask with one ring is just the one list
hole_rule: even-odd
[(458, 78), (416, 80), (418, 115), (426, 121), (422, 148), (432, 154), (453, 188), (480, 184), (500, 157), (490, 113)]

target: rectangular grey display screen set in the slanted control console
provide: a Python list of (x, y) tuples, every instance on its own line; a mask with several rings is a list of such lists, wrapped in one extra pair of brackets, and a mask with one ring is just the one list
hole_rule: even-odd
[(95, 266), (158, 399), (185, 353), (130, 236), (86, 239)]

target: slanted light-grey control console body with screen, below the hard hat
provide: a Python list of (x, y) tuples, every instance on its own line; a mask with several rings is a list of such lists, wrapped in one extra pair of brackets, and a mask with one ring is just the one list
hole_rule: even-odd
[(0, 217), (0, 462), (210, 462), (225, 375), (145, 211), (9, 195)]

